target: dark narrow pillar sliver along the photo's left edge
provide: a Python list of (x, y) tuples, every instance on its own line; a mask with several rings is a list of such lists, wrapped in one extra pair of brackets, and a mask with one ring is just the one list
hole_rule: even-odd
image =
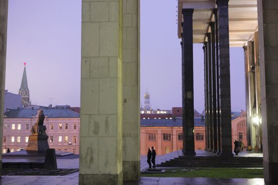
[(6, 76), (8, 0), (0, 1), (0, 174), (2, 174), (2, 140)]

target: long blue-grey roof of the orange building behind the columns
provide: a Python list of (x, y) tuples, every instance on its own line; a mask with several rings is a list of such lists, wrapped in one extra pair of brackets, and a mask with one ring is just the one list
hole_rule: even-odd
[[(195, 127), (204, 127), (205, 119), (194, 119)], [(141, 119), (141, 127), (182, 127), (182, 119)]]

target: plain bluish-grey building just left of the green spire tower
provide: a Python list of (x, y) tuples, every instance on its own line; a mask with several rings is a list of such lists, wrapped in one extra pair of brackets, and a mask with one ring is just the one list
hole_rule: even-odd
[(4, 112), (9, 109), (21, 108), (21, 95), (14, 94), (5, 90), (4, 93)]

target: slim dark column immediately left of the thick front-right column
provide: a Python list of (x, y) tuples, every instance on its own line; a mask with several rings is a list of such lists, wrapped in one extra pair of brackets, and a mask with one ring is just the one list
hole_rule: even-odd
[(216, 54), (216, 107), (217, 107), (217, 143), (218, 143), (218, 155), (221, 152), (221, 137), (220, 137), (220, 100), (219, 100), (219, 47), (218, 47), (218, 16), (217, 9), (213, 10), (214, 22), (215, 22), (215, 54)]

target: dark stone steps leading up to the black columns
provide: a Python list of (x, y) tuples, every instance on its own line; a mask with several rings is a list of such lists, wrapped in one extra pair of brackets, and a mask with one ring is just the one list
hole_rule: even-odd
[(241, 167), (262, 168), (262, 157), (178, 156), (159, 167)]

